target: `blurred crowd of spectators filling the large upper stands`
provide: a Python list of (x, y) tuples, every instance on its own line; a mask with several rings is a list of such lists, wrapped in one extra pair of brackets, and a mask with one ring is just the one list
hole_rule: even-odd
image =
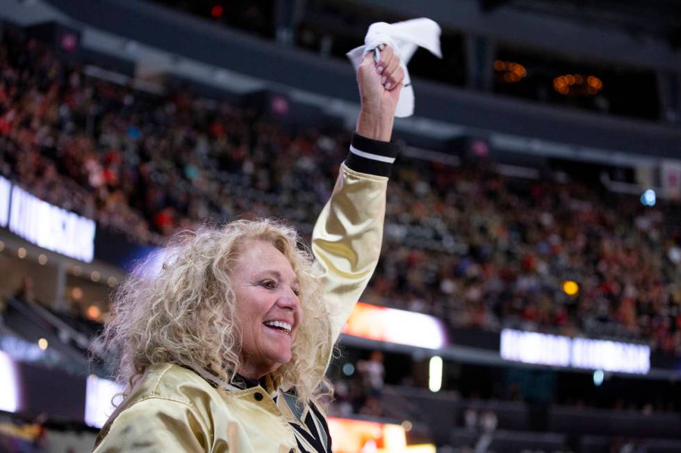
[[(249, 216), (309, 233), (348, 139), (186, 89), (93, 78), (12, 33), (0, 43), (0, 173), (141, 243)], [(681, 354), (680, 237), (665, 215), (580, 182), (402, 158), (363, 300), (454, 327), (641, 339)]]

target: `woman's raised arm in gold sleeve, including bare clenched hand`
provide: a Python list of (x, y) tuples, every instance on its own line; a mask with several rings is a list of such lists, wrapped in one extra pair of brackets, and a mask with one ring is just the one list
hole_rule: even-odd
[(389, 140), (404, 78), (399, 63), (389, 47), (381, 50), (378, 62), (373, 53), (361, 62), (356, 132), (312, 235), (313, 253), (325, 271), (334, 339), (366, 288), (381, 252), (386, 187), (397, 155), (397, 146)]

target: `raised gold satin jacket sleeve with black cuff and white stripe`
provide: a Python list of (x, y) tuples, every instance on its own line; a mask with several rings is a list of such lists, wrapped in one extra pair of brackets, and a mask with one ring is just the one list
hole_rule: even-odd
[(312, 251), (323, 268), (334, 341), (378, 263), (388, 176), (397, 151), (395, 144), (355, 134), (313, 230)]

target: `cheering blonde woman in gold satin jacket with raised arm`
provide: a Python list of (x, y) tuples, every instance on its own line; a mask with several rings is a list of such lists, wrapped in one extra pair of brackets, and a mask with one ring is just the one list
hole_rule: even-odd
[(377, 264), (397, 154), (404, 72), (381, 47), (359, 67), (356, 134), (313, 231), (316, 261), (290, 228), (236, 221), (178, 239), (156, 277), (122, 286), (104, 340), (127, 387), (95, 452), (331, 451), (315, 402)]

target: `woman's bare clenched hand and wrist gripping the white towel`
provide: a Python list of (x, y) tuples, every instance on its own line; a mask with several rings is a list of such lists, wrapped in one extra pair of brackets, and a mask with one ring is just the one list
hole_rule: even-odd
[(404, 69), (400, 58), (390, 46), (379, 46), (381, 57), (374, 60), (374, 53), (364, 55), (357, 71), (357, 85), (361, 110), (357, 118), (356, 132), (364, 137), (389, 142), (393, 134), (393, 120), (397, 99), (400, 99)]

